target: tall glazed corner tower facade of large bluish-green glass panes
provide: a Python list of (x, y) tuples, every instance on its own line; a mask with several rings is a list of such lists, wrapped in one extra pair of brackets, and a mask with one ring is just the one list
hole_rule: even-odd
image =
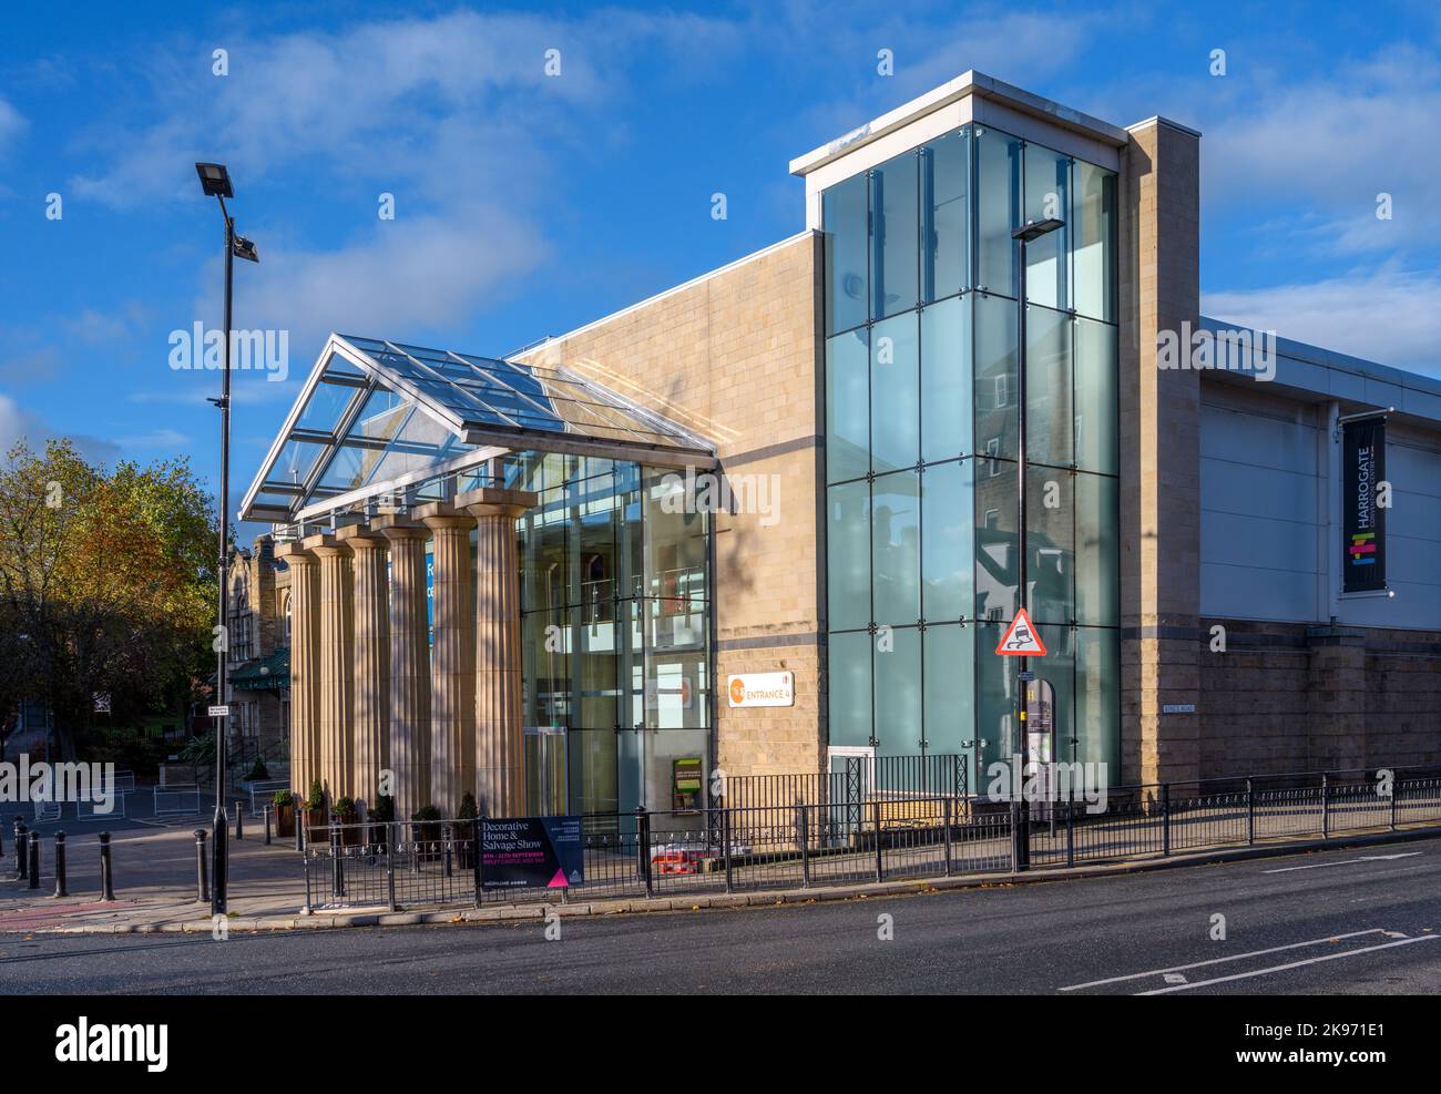
[(980, 125), (823, 195), (830, 744), (1019, 751), (1017, 287), (1027, 577), (1059, 760), (1120, 760), (1115, 174)]

